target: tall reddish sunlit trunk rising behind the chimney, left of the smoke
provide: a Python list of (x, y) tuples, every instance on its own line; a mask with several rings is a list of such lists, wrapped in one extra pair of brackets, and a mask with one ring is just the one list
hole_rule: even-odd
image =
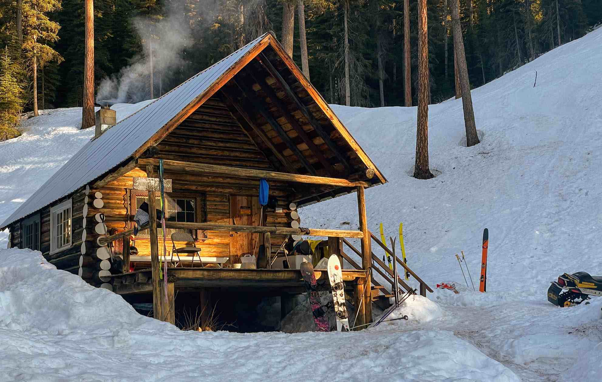
[(94, 5), (84, 0), (84, 96), (81, 109), (81, 128), (95, 125), (94, 121)]

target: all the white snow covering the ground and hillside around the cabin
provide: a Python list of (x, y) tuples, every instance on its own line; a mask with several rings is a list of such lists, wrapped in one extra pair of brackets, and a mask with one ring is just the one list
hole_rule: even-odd
[[(460, 292), (409, 298), (391, 315), (408, 321), (344, 334), (182, 333), (13, 249), (0, 251), (0, 381), (285, 380), (308, 365), (310, 380), (598, 381), (602, 298), (557, 308), (546, 291), (563, 272), (602, 275), (601, 72), (602, 28), (474, 89), (482, 142), (471, 148), (461, 100), (430, 105), (437, 177), (426, 181), (411, 177), (415, 108), (332, 106), (389, 180), (366, 192), (370, 229), (383, 222), (397, 236), (403, 221), (409, 266)], [(123, 117), (140, 105), (119, 107)], [(93, 134), (77, 130), (79, 108), (45, 113), (0, 143), (0, 220), (69, 159), (66, 145)], [(300, 216), (306, 227), (349, 229), (341, 223), (356, 228), (356, 211), (347, 195)], [(455, 257), (464, 251), (478, 287), (483, 228), (487, 293), (466, 286)]]

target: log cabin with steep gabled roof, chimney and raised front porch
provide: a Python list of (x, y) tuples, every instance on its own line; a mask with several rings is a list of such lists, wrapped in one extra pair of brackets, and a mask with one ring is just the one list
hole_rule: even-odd
[[(0, 224), (10, 230), (9, 246), (40, 251), (58, 269), (124, 298), (152, 298), (154, 317), (174, 323), (176, 292), (200, 295), (199, 305), (303, 292), (299, 269), (273, 269), (272, 258), (290, 237), (326, 237), (330, 254), (353, 265), (344, 281), (361, 310), (356, 324), (371, 321), (379, 295), (388, 301), (391, 292), (371, 283), (364, 198), (386, 178), (273, 33), (116, 124), (111, 112), (114, 119), (110, 102), (103, 105), (95, 137)], [(270, 198), (264, 208), (262, 179)], [(351, 192), (359, 230), (300, 227), (296, 208)], [(143, 202), (149, 223), (132, 237)], [(164, 211), (164, 230), (155, 206)], [(191, 242), (172, 243), (178, 232)], [(361, 239), (360, 249), (351, 247), (361, 264), (344, 253), (345, 237)], [(194, 256), (173, 261), (182, 246), (200, 249), (196, 264)], [(258, 255), (256, 268), (238, 269), (248, 254)], [(315, 273), (327, 279), (324, 270)], [(423, 284), (421, 293), (430, 290)]]

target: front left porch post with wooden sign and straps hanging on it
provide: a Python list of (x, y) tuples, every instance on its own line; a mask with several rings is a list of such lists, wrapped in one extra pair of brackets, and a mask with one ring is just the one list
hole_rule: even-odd
[[(154, 167), (146, 166), (146, 177), (154, 178)], [(160, 321), (175, 324), (175, 312), (173, 312), (173, 282), (167, 283), (167, 298), (160, 278), (159, 243), (157, 238), (157, 210), (155, 209), (155, 191), (149, 191), (149, 233), (151, 235), (151, 269), (152, 269), (152, 309), (153, 315)], [(170, 312), (170, 307), (172, 307)]]

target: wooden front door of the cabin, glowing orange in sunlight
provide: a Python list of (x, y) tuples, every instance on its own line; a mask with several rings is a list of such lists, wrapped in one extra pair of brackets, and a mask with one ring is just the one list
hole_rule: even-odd
[[(259, 225), (261, 206), (258, 196), (230, 195), (230, 224)], [(243, 254), (255, 254), (261, 245), (261, 235), (250, 233), (230, 233), (230, 264), (240, 263)]]

